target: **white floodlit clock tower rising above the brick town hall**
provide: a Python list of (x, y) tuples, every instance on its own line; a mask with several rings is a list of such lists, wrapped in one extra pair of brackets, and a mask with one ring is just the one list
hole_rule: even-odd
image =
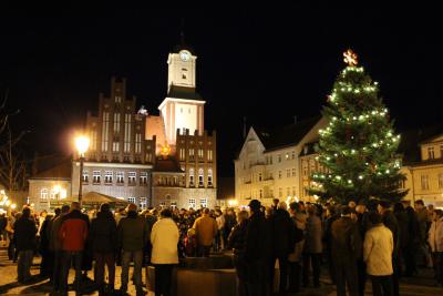
[(165, 126), (165, 140), (173, 151), (177, 130), (190, 135), (204, 132), (205, 101), (196, 92), (196, 60), (192, 50), (183, 44), (167, 58), (167, 95), (158, 110)]

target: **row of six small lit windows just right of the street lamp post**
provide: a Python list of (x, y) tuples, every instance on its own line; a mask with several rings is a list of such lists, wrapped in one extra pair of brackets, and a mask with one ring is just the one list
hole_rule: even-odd
[[(114, 172), (113, 171), (104, 171), (104, 184), (113, 184)], [(127, 173), (127, 185), (136, 185), (137, 174), (136, 172)], [(83, 183), (90, 182), (90, 172), (83, 171)], [(140, 185), (147, 185), (147, 173), (140, 173)], [(125, 184), (125, 173), (124, 172), (115, 172), (115, 182), (116, 184)], [(102, 172), (101, 171), (92, 171), (92, 184), (101, 184), (102, 183)]]

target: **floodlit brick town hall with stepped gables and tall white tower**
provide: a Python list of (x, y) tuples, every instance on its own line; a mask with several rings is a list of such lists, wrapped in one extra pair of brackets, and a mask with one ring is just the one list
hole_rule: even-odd
[[(83, 201), (115, 197), (147, 206), (214, 207), (217, 187), (216, 133), (204, 130), (205, 101), (196, 92), (196, 59), (187, 48), (169, 53), (167, 95), (159, 115), (136, 111), (126, 80), (112, 78), (110, 96), (87, 113), (90, 147), (82, 172)], [(79, 155), (35, 173), (29, 203), (53, 208), (78, 200)], [(52, 206), (51, 206), (52, 205)]]

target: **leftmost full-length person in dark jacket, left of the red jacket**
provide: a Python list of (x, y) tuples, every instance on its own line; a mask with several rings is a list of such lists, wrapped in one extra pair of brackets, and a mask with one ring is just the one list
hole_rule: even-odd
[(33, 253), (37, 246), (37, 226), (30, 218), (31, 210), (24, 207), (22, 216), (14, 224), (14, 235), (17, 239), (17, 251), (19, 252), (19, 262), (17, 274), (19, 283), (25, 283), (31, 279), (31, 264)]

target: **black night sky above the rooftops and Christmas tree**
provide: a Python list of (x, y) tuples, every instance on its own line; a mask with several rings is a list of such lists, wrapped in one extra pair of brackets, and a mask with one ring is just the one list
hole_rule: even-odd
[(84, 11), (1, 12), (0, 91), (9, 91), (8, 110), (21, 110), (12, 122), (31, 131), (28, 149), (69, 153), (71, 132), (96, 112), (112, 75), (126, 76), (137, 105), (157, 113), (182, 17), (222, 175), (234, 174), (243, 116), (278, 126), (319, 114), (349, 47), (379, 81), (399, 129), (443, 121), (443, 24), (429, 11)]

